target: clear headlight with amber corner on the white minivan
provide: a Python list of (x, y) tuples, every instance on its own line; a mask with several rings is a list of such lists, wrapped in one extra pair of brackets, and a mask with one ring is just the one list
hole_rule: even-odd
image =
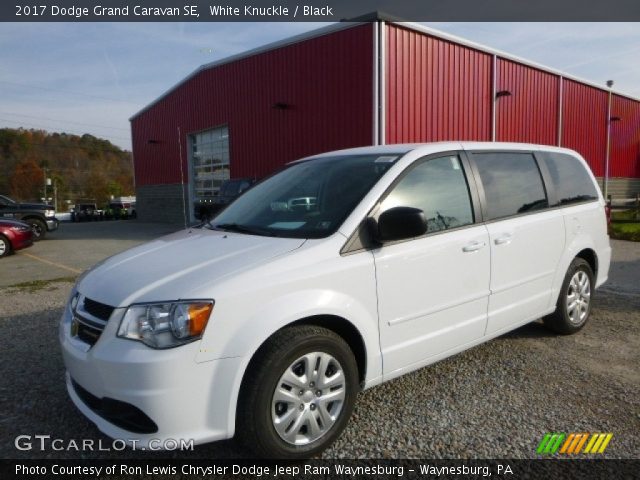
[(153, 348), (177, 347), (202, 336), (212, 311), (211, 300), (131, 305), (118, 336)]

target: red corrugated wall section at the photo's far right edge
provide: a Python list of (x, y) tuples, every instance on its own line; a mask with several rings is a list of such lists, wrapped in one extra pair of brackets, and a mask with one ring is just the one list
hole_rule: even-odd
[(613, 95), (610, 177), (640, 177), (640, 102)]

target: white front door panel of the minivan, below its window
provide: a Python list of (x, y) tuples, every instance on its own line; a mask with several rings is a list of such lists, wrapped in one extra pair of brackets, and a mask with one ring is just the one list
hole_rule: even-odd
[[(463, 251), (473, 243), (484, 247)], [(382, 247), (374, 255), (385, 377), (484, 335), (490, 271), (484, 225)]]

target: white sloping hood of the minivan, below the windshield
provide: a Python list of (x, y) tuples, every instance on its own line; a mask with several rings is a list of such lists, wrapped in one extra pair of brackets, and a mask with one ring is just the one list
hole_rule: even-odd
[(195, 292), (299, 248), (300, 238), (208, 229), (180, 231), (119, 253), (87, 271), (78, 291), (107, 305), (194, 298)]

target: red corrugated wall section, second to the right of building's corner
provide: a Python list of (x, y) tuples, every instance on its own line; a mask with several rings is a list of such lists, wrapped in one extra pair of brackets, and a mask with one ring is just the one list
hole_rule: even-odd
[(559, 77), (498, 58), (496, 140), (557, 145)]

